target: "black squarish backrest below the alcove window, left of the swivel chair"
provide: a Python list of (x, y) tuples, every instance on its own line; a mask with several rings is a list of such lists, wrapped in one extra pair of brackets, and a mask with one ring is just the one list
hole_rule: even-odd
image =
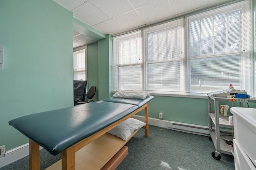
[(84, 100), (86, 92), (86, 80), (74, 80), (74, 101)]

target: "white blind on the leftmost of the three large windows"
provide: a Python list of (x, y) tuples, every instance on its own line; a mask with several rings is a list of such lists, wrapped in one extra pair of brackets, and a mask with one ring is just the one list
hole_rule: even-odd
[(142, 90), (141, 31), (115, 37), (114, 47), (114, 89)]

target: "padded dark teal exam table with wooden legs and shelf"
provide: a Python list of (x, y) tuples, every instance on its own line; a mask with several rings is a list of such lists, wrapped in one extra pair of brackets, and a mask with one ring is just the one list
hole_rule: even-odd
[[(9, 124), (29, 139), (30, 170), (40, 169), (39, 146), (62, 160), (47, 169), (111, 169), (128, 154), (126, 141), (107, 132), (144, 109), (148, 137), (148, 102), (145, 99), (108, 98), (77, 106), (18, 117)], [(126, 153), (126, 154), (125, 154)], [(122, 154), (125, 156), (122, 157)]]

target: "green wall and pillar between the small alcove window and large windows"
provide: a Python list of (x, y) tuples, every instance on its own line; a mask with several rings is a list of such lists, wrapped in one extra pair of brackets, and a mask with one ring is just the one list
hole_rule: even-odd
[(87, 45), (88, 88), (96, 86), (92, 100), (109, 98), (112, 91), (112, 36)]

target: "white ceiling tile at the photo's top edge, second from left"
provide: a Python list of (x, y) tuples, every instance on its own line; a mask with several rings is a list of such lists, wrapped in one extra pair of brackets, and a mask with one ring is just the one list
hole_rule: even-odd
[(90, 3), (110, 18), (134, 9), (127, 0), (90, 0)]

